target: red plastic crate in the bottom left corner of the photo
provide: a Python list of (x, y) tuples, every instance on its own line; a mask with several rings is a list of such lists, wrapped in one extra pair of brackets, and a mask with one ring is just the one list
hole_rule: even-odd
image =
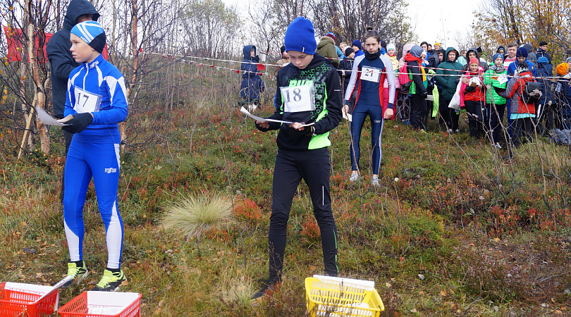
[[(44, 298), (42, 295), (46, 294)], [(4, 282), (0, 284), (0, 316), (39, 317), (54, 313), (59, 290), (50, 286)]]

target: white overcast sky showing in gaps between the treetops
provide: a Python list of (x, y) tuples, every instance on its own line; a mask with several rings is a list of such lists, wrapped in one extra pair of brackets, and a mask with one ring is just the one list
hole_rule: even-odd
[[(241, 14), (247, 16), (248, 1), (223, 0), (224, 3), (238, 6)], [(472, 25), (473, 12), (481, 0), (472, 1), (431, 1), (408, 0), (408, 12), (419, 42), (431, 44), (440, 42), (443, 46), (456, 46), (456, 33), (465, 36)]]

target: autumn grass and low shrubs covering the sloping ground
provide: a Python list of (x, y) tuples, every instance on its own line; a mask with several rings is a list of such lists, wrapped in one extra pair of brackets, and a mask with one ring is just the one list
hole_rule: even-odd
[[(302, 183), (290, 214), (283, 283), (270, 299), (257, 305), (248, 300), (257, 281), (267, 278), (276, 132), (259, 132), (241, 118), (231, 106), (235, 92), (226, 88), (204, 92), (171, 113), (159, 106), (128, 122), (140, 142), (147, 140), (140, 150), (122, 154), (118, 189), (129, 281), (123, 290), (142, 293), (142, 316), (303, 316), (304, 279), (324, 273), (319, 230)], [(257, 114), (269, 115), (271, 108), (264, 105)], [(154, 130), (157, 125), (161, 129)], [(474, 144), (466, 123), (461, 127), (462, 134), (448, 135), (431, 121), (431, 132), (420, 134), (386, 123), (381, 187), (369, 185), (369, 135), (362, 137), (364, 181), (352, 184), (348, 124), (331, 132), (340, 275), (374, 280), (386, 316), (567, 313), (568, 149), (540, 140), (517, 150), (510, 164), (501, 159), (505, 151)], [(17, 161), (3, 154), (0, 161), (0, 281), (50, 285), (66, 273), (59, 203), (63, 149), (52, 130), (50, 155)], [(161, 224), (181, 197), (214, 195), (226, 197), (230, 220), (176, 220), (176, 230)], [(203, 223), (209, 225), (199, 227)], [(94, 285), (106, 263), (93, 187), (85, 225), (92, 274), (61, 290), (61, 304)], [(200, 232), (199, 240), (192, 230), (178, 234), (189, 228)]]

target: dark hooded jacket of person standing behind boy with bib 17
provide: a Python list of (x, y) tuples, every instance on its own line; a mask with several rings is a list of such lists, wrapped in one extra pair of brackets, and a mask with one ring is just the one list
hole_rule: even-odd
[(70, 31), (77, 24), (78, 18), (86, 14), (92, 14), (94, 21), (99, 18), (99, 13), (91, 2), (71, 0), (66, 11), (66, 18), (63, 19), (63, 27), (49, 39), (46, 47), (47, 57), (51, 64), (51, 96), (55, 118), (63, 118), (69, 74), (80, 66), (80, 63), (76, 63), (71, 57), (69, 51), (71, 47)]

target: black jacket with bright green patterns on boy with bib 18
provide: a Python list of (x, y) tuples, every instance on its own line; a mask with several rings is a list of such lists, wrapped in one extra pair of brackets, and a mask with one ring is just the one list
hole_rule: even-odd
[[(285, 112), (284, 101), (280, 87), (312, 86), (314, 98), (314, 110)], [(292, 97), (292, 96), (290, 96)], [(285, 97), (287, 98), (287, 96)], [(306, 127), (303, 131), (290, 128), (285, 123), (269, 123), (269, 129), (256, 125), (258, 130), (278, 130), (278, 148), (290, 151), (302, 151), (307, 149), (321, 149), (329, 147), (329, 131), (339, 124), (342, 113), (343, 97), (339, 75), (336, 68), (323, 56), (315, 54), (312, 61), (305, 69), (299, 69), (289, 63), (278, 72), (276, 97), (274, 98), (276, 111), (269, 119), (289, 121), (292, 123), (314, 123), (314, 133), (309, 134), (311, 128)]]

